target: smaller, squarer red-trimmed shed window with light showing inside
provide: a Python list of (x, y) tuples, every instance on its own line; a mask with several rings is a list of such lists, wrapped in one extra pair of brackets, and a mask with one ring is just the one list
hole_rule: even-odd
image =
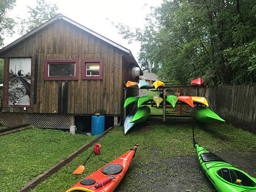
[(102, 59), (83, 59), (82, 79), (102, 79)]

